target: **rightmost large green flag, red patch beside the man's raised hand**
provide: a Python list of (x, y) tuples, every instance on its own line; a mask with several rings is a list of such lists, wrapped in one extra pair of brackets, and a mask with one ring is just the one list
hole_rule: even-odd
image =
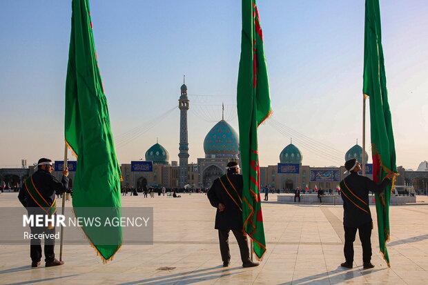
[[(380, 32), (379, 0), (366, 0), (364, 30), (364, 83), (362, 92), (370, 97), (371, 153), (373, 180), (378, 183), (396, 172), (396, 148), (388, 104), (387, 77)], [(380, 251), (389, 266), (389, 199), (395, 177), (380, 195), (376, 194)]]

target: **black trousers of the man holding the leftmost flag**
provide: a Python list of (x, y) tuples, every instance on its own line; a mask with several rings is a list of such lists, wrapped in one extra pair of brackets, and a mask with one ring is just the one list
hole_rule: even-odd
[[(32, 234), (45, 233), (46, 235), (55, 234), (55, 227), (48, 229), (46, 227), (30, 227)], [(54, 253), (55, 239), (45, 239), (45, 262), (52, 262), (55, 259)], [(39, 238), (30, 240), (30, 257), (32, 262), (41, 260), (41, 241)]]

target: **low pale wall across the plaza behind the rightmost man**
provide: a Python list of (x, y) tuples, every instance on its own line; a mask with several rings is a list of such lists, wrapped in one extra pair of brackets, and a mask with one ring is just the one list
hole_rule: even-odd
[[(278, 195), (278, 202), (294, 203), (294, 195)], [(374, 195), (369, 195), (369, 203), (375, 204)], [(299, 200), (296, 199), (296, 204)], [(327, 204), (327, 205), (342, 205), (342, 196), (340, 195), (323, 195), (318, 199), (318, 195), (304, 194), (300, 195), (300, 204)], [(391, 196), (391, 205), (402, 205), (407, 203), (416, 203), (416, 197), (411, 196)]]

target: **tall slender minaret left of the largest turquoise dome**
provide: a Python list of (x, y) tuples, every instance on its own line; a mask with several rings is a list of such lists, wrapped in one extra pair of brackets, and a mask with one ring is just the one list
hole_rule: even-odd
[(186, 86), (186, 75), (183, 76), (183, 85), (180, 88), (181, 95), (178, 99), (178, 108), (180, 110), (179, 117), (179, 188), (183, 188), (184, 185), (188, 184), (187, 181), (187, 159), (188, 159), (188, 141), (187, 141), (187, 110), (188, 110), (188, 99), (187, 99), (187, 86)]

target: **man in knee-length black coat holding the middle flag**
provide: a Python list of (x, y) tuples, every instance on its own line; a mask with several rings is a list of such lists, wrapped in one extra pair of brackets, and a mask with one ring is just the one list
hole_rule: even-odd
[(214, 180), (213, 186), (207, 194), (211, 205), (217, 208), (215, 229), (218, 230), (223, 266), (229, 266), (231, 260), (228, 244), (229, 232), (231, 230), (240, 247), (242, 266), (258, 266), (257, 262), (252, 262), (250, 259), (248, 241), (244, 234), (244, 223), (242, 222), (242, 175), (239, 174), (240, 166), (237, 162), (230, 161), (226, 169), (227, 173)]

